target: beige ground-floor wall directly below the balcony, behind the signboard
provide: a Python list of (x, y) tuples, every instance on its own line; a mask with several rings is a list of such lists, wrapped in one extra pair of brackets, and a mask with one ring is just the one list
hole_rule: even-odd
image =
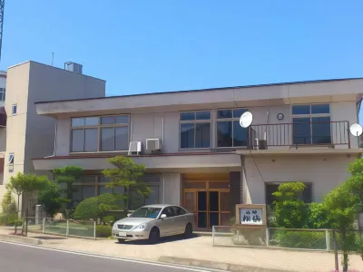
[[(302, 181), (313, 184), (313, 201), (348, 179), (353, 156), (268, 156), (245, 157), (243, 173), (244, 203), (265, 203), (265, 182)], [(274, 160), (274, 161), (273, 161)]]

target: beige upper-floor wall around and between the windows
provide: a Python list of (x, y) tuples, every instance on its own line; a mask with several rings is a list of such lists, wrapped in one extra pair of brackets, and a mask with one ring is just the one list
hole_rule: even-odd
[[(291, 105), (280, 105), (280, 106), (270, 106), (270, 107), (252, 107), (249, 109), (253, 114), (253, 124), (279, 124), (279, 123), (290, 123), (292, 121), (291, 117)], [(216, 131), (216, 116), (217, 110), (211, 110), (211, 149), (210, 150), (189, 150), (182, 152), (209, 152), (215, 151), (217, 148), (217, 131)], [(267, 112), (270, 112), (269, 118)], [(331, 102), (330, 103), (330, 116), (331, 121), (349, 121), (350, 124), (357, 122), (357, 107), (356, 102)], [(277, 115), (279, 113), (284, 114), (284, 119), (279, 121)], [(50, 119), (50, 118), (49, 118)], [(56, 139), (56, 151), (57, 156), (66, 156), (70, 151), (70, 128), (71, 120), (70, 118), (58, 119), (58, 129), (57, 129), (57, 139)], [(344, 139), (340, 139), (343, 135), (347, 134), (343, 130), (343, 124), (338, 127), (337, 124), (332, 125), (334, 130), (340, 131), (338, 133), (333, 132), (334, 142), (345, 142)], [(263, 137), (263, 131), (266, 129), (265, 126), (260, 127), (260, 138)], [(272, 127), (271, 127), (272, 128)], [(277, 127), (276, 131), (278, 130)], [(346, 127), (348, 129), (348, 125)], [(289, 133), (288, 133), (289, 130)], [(176, 153), (179, 152), (180, 146), (180, 130), (179, 130), (179, 112), (158, 112), (158, 113), (135, 113), (131, 114), (131, 141), (142, 141), (142, 149), (145, 151), (146, 139), (159, 138), (163, 140), (163, 152), (165, 153)], [(281, 134), (287, 136), (292, 135), (292, 127), (287, 127), (286, 133), (280, 131)], [(282, 135), (282, 136), (283, 136)], [(276, 138), (273, 128), (268, 134), (268, 140), (270, 142)], [(340, 141), (341, 140), (341, 141)], [(284, 143), (292, 144), (291, 139), (282, 139)], [(350, 135), (351, 147), (358, 147), (358, 140), (356, 137)], [(289, 148), (279, 147), (279, 148)], [(348, 145), (340, 145), (336, 148), (348, 148)]]

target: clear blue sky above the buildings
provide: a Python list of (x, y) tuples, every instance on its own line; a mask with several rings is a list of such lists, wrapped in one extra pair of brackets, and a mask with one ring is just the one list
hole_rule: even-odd
[(363, 1), (12, 0), (1, 69), (34, 60), (108, 95), (363, 76)]

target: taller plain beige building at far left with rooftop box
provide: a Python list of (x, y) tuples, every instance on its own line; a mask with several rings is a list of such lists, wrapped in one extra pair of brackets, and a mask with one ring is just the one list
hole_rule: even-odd
[[(6, 84), (2, 85), (4, 74)], [(0, 112), (0, 199), (6, 183), (17, 172), (49, 174), (53, 178), (49, 171), (33, 167), (32, 158), (45, 157), (53, 151), (56, 127), (54, 119), (36, 113), (34, 102), (104, 95), (105, 82), (84, 75), (82, 65), (77, 63), (65, 63), (64, 69), (60, 69), (28, 61), (0, 73), (0, 100), (5, 100), (3, 124)], [(35, 199), (32, 202), (30, 214), (36, 204)]]

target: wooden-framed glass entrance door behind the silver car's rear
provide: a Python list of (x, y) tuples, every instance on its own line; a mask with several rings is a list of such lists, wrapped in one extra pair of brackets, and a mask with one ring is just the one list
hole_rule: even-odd
[(185, 180), (183, 187), (183, 206), (195, 214), (199, 229), (231, 224), (229, 180)]

